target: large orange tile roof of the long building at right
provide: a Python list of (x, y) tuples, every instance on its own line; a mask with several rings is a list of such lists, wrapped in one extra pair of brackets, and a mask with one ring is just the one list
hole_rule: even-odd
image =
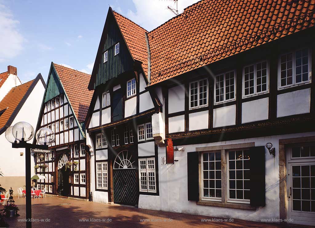
[[(314, 26), (310, 20), (314, 19), (314, 4), (315, 0), (199, 1), (148, 33), (150, 84)], [(305, 14), (310, 17), (301, 17)], [(297, 17), (303, 22), (292, 21)], [(282, 23), (294, 26), (265, 32)], [(250, 36), (254, 42), (242, 41)]]

